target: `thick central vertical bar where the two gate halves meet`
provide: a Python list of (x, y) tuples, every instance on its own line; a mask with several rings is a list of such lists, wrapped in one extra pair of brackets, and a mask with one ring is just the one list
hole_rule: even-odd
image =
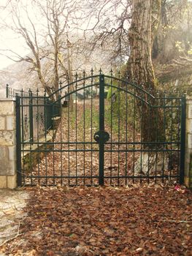
[[(104, 75), (99, 75), (99, 131), (104, 131)], [(99, 185), (104, 185), (104, 138), (99, 138)]]

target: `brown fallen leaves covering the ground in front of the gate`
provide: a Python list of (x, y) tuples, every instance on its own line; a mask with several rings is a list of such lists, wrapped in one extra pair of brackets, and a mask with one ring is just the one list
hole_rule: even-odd
[(7, 255), (192, 255), (192, 193), (179, 186), (27, 190)]

